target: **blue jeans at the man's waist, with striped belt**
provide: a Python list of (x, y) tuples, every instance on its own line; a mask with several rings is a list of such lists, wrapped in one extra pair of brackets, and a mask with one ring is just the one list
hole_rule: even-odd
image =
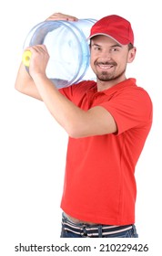
[[(85, 223), (74, 223), (67, 219), (63, 214), (61, 238), (138, 238), (137, 229), (134, 224), (127, 226), (119, 226), (121, 231), (117, 233), (112, 232), (115, 228), (111, 229), (108, 225), (89, 225)], [(89, 230), (94, 230), (92, 233)], [(127, 229), (127, 230), (122, 230)], [(106, 232), (106, 230), (109, 232)], [(117, 227), (116, 227), (117, 230)], [(91, 233), (90, 233), (91, 232)]]

